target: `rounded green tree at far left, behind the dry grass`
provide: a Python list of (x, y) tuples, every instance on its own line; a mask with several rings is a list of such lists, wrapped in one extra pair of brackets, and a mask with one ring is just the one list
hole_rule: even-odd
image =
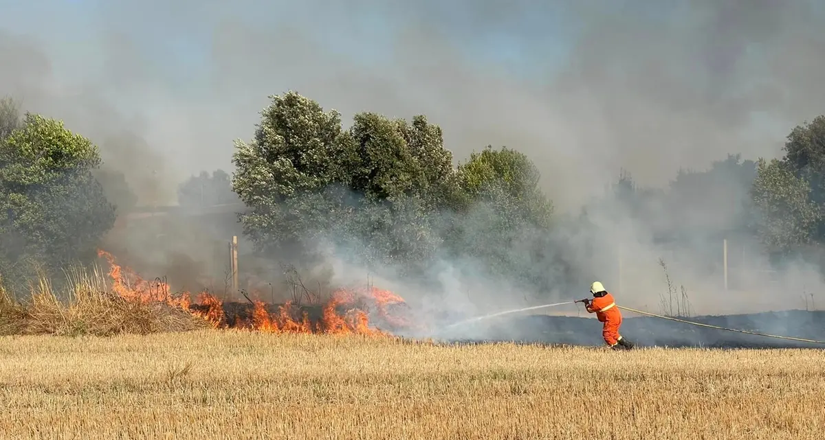
[(34, 262), (46, 271), (95, 255), (114, 225), (110, 204), (92, 171), (97, 147), (64, 124), (26, 114), (0, 142), (0, 270), (21, 280)]

